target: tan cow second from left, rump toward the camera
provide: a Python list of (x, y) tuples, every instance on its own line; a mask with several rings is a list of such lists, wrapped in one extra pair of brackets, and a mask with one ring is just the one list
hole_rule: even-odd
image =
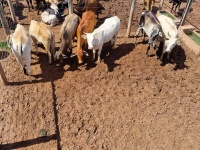
[(55, 57), (55, 36), (51, 28), (42, 22), (31, 20), (29, 33), (33, 39), (36, 53), (38, 54), (38, 41), (44, 45), (44, 48), (49, 56), (49, 64), (51, 64), (52, 55)]

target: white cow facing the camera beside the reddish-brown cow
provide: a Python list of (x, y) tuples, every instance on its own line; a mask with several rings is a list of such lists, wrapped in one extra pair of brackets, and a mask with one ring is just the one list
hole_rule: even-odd
[(88, 49), (93, 50), (93, 60), (95, 59), (96, 50), (99, 49), (97, 62), (100, 62), (101, 50), (104, 43), (111, 41), (113, 47), (115, 47), (119, 29), (120, 19), (114, 16), (106, 19), (105, 22), (92, 33), (85, 33), (82, 35), (84, 39), (87, 39)]

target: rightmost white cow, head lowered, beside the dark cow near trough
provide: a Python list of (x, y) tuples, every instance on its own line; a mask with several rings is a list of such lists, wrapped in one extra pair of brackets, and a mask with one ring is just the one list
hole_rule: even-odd
[(165, 52), (168, 53), (167, 58), (169, 59), (169, 55), (172, 51), (172, 49), (179, 43), (178, 41), (178, 30), (177, 26), (174, 23), (174, 21), (165, 16), (165, 15), (160, 15), (158, 16), (158, 20), (162, 26), (163, 32), (165, 34), (166, 40), (165, 40), (165, 48), (162, 51), (162, 55), (160, 59), (163, 59), (163, 55)]

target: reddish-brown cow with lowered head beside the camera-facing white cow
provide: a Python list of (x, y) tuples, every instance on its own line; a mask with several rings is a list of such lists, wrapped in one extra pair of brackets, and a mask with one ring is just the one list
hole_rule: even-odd
[(77, 48), (76, 48), (76, 54), (78, 57), (79, 64), (83, 62), (83, 44), (87, 44), (87, 40), (83, 39), (81, 35), (83, 35), (84, 32), (91, 33), (94, 31), (94, 27), (96, 26), (97, 20), (95, 18), (95, 14), (93, 11), (86, 11), (82, 14), (81, 22), (78, 25), (77, 28)]

